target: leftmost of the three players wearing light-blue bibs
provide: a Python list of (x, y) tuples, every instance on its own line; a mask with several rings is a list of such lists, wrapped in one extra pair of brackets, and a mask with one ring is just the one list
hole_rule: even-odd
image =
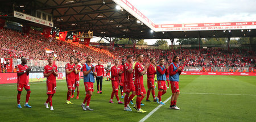
[[(86, 60), (87, 60), (86, 64), (82, 66), (82, 72), (84, 73), (84, 87), (86, 91), (86, 96), (81, 106), (84, 111), (86, 110), (93, 111), (92, 109), (89, 108), (89, 104), (90, 104), (90, 98), (93, 92), (94, 76), (97, 76), (97, 73), (95, 72), (95, 69), (94, 69), (95, 67), (92, 65), (92, 56), (87, 56)], [(86, 103), (86, 107), (85, 107), (85, 103)]]

